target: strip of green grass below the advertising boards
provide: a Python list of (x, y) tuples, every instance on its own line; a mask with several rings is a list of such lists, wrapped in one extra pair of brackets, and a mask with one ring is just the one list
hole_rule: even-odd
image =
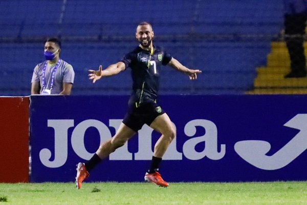
[(306, 181), (246, 183), (0, 183), (5, 204), (307, 204)]

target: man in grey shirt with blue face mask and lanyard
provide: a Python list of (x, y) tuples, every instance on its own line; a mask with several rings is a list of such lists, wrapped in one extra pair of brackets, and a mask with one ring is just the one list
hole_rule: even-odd
[(46, 60), (36, 65), (31, 80), (31, 94), (70, 95), (74, 83), (73, 67), (60, 59), (61, 42), (57, 38), (45, 41)]

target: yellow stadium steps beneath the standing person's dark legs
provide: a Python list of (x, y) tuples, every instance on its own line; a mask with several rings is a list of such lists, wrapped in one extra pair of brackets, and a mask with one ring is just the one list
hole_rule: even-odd
[[(307, 43), (304, 43), (307, 56)], [(307, 77), (284, 78), (290, 72), (290, 57), (286, 42), (271, 42), (267, 66), (257, 68), (254, 89), (247, 94), (306, 94)]]

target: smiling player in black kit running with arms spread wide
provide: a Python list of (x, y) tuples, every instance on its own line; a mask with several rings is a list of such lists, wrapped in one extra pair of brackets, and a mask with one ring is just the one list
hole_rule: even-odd
[(89, 70), (89, 77), (93, 83), (101, 77), (118, 74), (126, 68), (131, 68), (133, 79), (133, 93), (128, 102), (128, 111), (116, 134), (103, 142), (94, 156), (87, 162), (77, 165), (76, 186), (80, 189), (82, 181), (89, 176), (89, 172), (109, 154), (123, 146), (128, 139), (134, 136), (144, 124), (161, 133), (156, 142), (151, 164), (144, 179), (156, 183), (161, 187), (168, 187), (159, 173), (159, 165), (170, 142), (176, 136), (176, 130), (168, 115), (157, 104), (159, 89), (159, 72), (161, 66), (170, 66), (196, 79), (200, 70), (191, 70), (179, 63), (163, 48), (154, 46), (152, 38), (154, 33), (148, 22), (137, 26), (136, 38), (139, 46), (126, 54), (119, 62), (110, 65), (105, 70)]

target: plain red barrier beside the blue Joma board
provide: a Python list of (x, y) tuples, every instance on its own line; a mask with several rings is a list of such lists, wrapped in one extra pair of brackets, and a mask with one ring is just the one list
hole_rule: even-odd
[(0, 97), (0, 182), (29, 182), (29, 97)]

